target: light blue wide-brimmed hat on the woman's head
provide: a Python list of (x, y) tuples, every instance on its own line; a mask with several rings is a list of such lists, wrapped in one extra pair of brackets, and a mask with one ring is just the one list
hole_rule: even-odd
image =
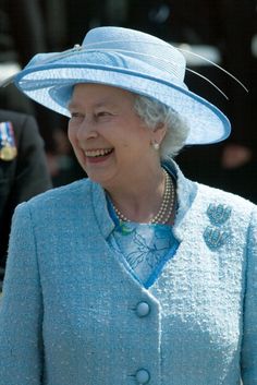
[(90, 29), (82, 46), (60, 53), (39, 53), (15, 76), (32, 99), (64, 116), (77, 83), (127, 89), (172, 107), (186, 119), (186, 144), (209, 144), (229, 136), (228, 118), (184, 83), (181, 51), (155, 36), (123, 27)]

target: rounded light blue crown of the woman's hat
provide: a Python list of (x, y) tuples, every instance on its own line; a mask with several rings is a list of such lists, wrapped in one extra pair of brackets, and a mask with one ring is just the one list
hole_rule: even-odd
[[(184, 86), (185, 58), (172, 45), (146, 33), (122, 27), (97, 27), (85, 36), (82, 47), (118, 57), (136, 60), (138, 65), (150, 74), (160, 72), (163, 79), (176, 81)], [(130, 65), (131, 67), (131, 65)]]

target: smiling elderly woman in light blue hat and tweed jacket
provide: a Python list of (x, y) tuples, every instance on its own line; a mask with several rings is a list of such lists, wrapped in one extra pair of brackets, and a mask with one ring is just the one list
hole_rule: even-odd
[(257, 384), (256, 207), (172, 160), (230, 133), (184, 72), (169, 44), (99, 27), (15, 76), (70, 116), (89, 178), (15, 212), (1, 385)]

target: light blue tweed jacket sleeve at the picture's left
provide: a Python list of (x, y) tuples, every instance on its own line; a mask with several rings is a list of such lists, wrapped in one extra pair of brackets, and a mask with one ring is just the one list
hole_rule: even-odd
[(42, 304), (28, 204), (14, 214), (0, 300), (0, 385), (40, 385)]

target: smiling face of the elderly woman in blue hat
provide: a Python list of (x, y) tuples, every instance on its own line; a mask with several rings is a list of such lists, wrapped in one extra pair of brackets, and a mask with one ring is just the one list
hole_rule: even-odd
[(134, 110), (135, 96), (121, 88), (77, 84), (69, 109), (69, 139), (88, 177), (103, 188), (159, 165), (150, 143), (160, 142)]

